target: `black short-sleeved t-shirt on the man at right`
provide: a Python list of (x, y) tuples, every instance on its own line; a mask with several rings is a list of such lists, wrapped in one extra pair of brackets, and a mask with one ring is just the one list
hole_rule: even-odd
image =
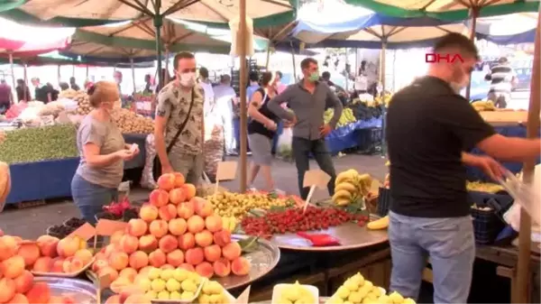
[(468, 216), (462, 152), (492, 134), (491, 125), (440, 78), (419, 78), (401, 89), (387, 114), (390, 210), (404, 216)]

